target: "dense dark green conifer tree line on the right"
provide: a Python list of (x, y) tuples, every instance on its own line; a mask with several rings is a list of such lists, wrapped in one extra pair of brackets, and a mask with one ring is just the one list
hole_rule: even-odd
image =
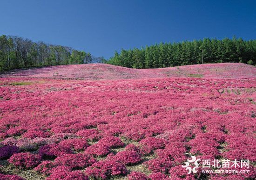
[(202, 63), (240, 62), (256, 64), (256, 40), (204, 38), (178, 43), (122, 49), (106, 63), (129, 68), (162, 68)]

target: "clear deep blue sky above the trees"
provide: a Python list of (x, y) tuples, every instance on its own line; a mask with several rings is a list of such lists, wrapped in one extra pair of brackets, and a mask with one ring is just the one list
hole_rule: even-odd
[(162, 42), (256, 39), (256, 0), (1, 0), (0, 34), (109, 58)]

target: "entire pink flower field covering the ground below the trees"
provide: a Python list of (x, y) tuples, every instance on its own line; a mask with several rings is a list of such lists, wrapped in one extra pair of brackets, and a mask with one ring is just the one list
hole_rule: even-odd
[[(16, 70), (0, 77), (0, 180), (253, 180), (255, 126), (246, 64)], [(188, 174), (191, 156), (249, 172)]]

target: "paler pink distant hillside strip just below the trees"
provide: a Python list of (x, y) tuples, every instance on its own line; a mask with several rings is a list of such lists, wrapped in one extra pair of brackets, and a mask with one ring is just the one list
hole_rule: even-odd
[(179, 66), (179, 69), (177, 67), (131, 69), (110, 64), (76, 64), (18, 69), (1, 73), (0, 77), (81, 78), (88, 80), (162, 77), (233, 79), (256, 77), (256, 67), (242, 63), (222, 63)]

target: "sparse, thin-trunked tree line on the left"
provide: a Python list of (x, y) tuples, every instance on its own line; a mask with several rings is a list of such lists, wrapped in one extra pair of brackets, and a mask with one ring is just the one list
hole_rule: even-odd
[(0, 36), (0, 71), (16, 68), (93, 63), (90, 52), (71, 47), (32, 42), (16, 36)]

